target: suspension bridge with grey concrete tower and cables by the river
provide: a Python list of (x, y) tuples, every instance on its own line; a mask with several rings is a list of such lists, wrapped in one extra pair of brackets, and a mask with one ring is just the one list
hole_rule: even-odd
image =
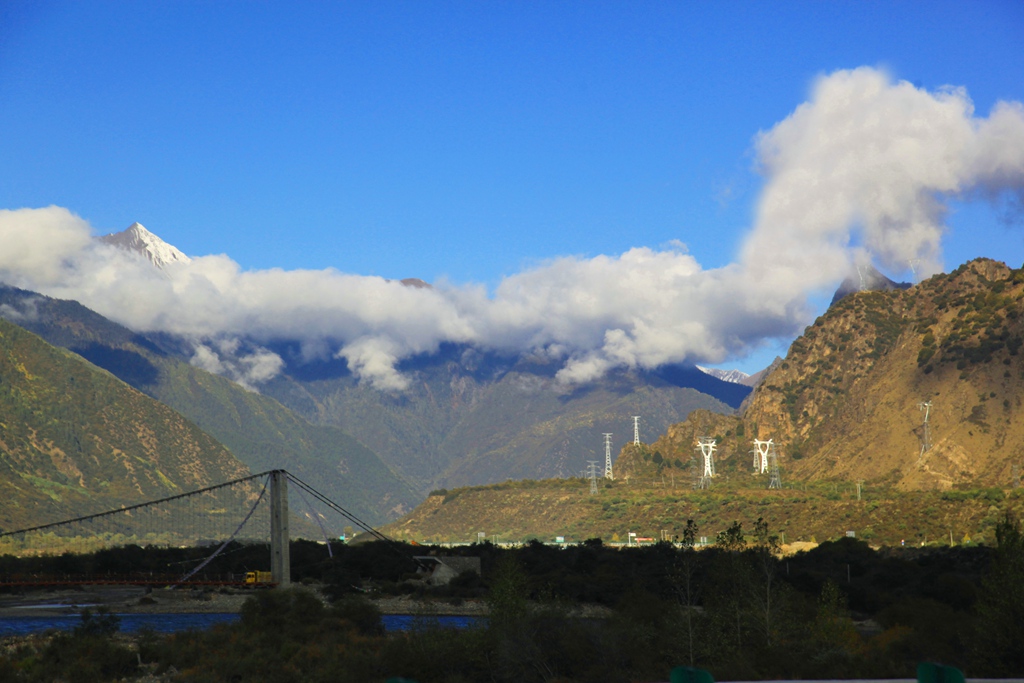
[[(297, 505), (289, 507), (289, 484)], [(269, 545), (267, 572), (249, 583), (287, 586), (291, 583), (290, 542), (293, 524), (305, 536), (323, 537), (327, 552), (338, 539), (338, 525), (357, 527), (380, 541), (391, 541), (357, 515), (286, 470), (268, 470), (224, 483), (115, 510), (0, 532), (0, 555), (61, 556), (126, 547), (203, 548), (200, 561), (178, 573), (160, 577), (92, 578), (90, 584), (223, 585), (245, 584), (242, 577), (211, 578), (205, 570), (216, 558), (240, 546)], [(266, 566), (265, 564), (263, 565)], [(3, 577), (0, 586), (53, 585), (52, 577)], [(68, 583), (83, 583), (76, 578)]]

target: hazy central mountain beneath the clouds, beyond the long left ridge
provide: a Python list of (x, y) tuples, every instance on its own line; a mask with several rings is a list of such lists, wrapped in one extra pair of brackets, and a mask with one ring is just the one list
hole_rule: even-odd
[[(415, 279), (402, 284), (427, 287)], [(171, 335), (144, 337), (180, 359), (195, 355)], [(397, 370), (410, 387), (388, 393), (359, 382), (342, 359), (310, 361), (289, 340), (251, 343), (284, 361), (280, 374), (258, 385), (263, 395), (310, 423), (351, 434), (421, 494), (438, 485), (565, 476), (603, 449), (602, 433), (632, 434), (633, 415), (643, 418), (646, 431), (663, 431), (695, 409), (729, 413), (750, 393), (693, 367), (673, 366), (613, 371), (566, 386), (555, 380), (559, 365), (551, 358), (459, 344), (401, 360)]]

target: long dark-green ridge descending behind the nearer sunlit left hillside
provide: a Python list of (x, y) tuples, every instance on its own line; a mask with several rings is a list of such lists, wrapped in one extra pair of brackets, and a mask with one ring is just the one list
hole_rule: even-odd
[(109, 370), (215, 437), (253, 471), (287, 469), (370, 523), (419, 500), (337, 427), (312, 425), (274, 399), (178, 358), (173, 339), (146, 338), (74, 301), (0, 287), (0, 314)]

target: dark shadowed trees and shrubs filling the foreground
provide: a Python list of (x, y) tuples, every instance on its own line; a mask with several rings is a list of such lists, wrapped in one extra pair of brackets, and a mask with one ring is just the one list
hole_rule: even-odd
[[(297, 573), (323, 582), (327, 601), (306, 587), (267, 591), (236, 624), (134, 639), (115, 635), (116, 618), (90, 617), (73, 633), (8, 643), (0, 679), (625, 683), (665, 680), (679, 665), (707, 668), (717, 680), (906, 678), (922, 660), (972, 676), (1024, 673), (1024, 536), (1011, 515), (997, 526), (995, 549), (873, 551), (843, 539), (778, 559), (767, 523), (749, 530), (735, 523), (705, 550), (692, 547), (699, 533), (692, 523), (681, 547), (485, 543), (459, 549), (480, 557), (482, 575), (464, 572), (437, 588), (415, 572), (423, 548), (374, 543), (317, 560), (315, 544), (300, 544)], [(122, 549), (100, 560), (121, 553), (139, 568), (144, 557), (167, 559)], [(5, 570), (23, 561), (4, 559)], [(25, 561), (39, 568), (45, 559)], [(82, 570), (98, 561), (79, 559)], [(385, 634), (366, 596), (402, 593), (450, 603), (483, 598), (489, 616), (479, 628), (426, 621)], [(572, 616), (569, 607), (581, 602), (608, 605), (610, 616)]]

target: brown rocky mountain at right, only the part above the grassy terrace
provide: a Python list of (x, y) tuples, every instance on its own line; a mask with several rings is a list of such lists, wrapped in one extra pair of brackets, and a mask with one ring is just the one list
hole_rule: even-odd
[(1022, 345), (1024, 269), (978, 259), (907, 290), (853, 293), (793, 343), (742, 417), (698, 411), (624, 450), (617, 468), (688, 464), (706, 435), (719, 437), (728, 475), (752, 469), (759, 437), (791, 480), (1010, 486), (1024, 465)]

